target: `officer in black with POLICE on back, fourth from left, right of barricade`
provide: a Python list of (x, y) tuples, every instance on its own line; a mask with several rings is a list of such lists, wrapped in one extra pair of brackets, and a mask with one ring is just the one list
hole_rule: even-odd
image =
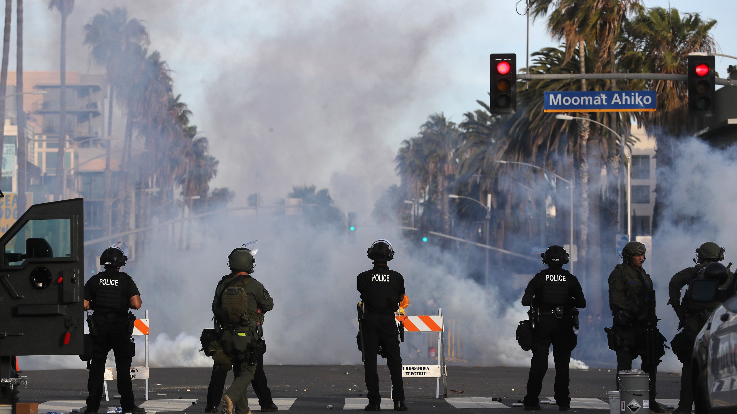
[(539, 395), (542, 379), (548, 371), (548, 350), (553, 345), (555, 361), (555, 399), (559, 410), (570, 410), (568, 390), (568, 365), (570, 351), (576, 347), (577, 337), (573, 331), (577, 326), (578, 309), (586, 307), (584, 292), (579, 279), (563, 264), (568, 262), (568, 253), (560, 246), (551, 246), (540, 255), (547, 269), (535, 275), (525, 289), (524, 306), (531, 307), (534, 318), (532, 361), (527, 381), (525, 410), (540, 410)]

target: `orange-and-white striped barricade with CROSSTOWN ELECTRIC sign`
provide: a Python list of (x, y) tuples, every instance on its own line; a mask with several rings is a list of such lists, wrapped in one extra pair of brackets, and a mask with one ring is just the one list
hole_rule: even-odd
[[(437, 378), (435, 398), (447, 396), (447, 370), (445, 368), (445, 344), (443, 340), (443, 308), (438, 309), (438, 315), (396, 315), (397, 326), (402, 322), (407, 332), (437, 332), (438, 333), (438, 364), (437, 365), (402, 365), (402, 377), (406, 378)], [(440, 392), (442, 382), (443, 392)]]

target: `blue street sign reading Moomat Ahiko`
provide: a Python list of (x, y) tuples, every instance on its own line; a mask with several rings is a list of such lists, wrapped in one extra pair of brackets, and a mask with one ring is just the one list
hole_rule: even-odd
[(655, 91), (545, 92), (545, 112), (653, 112)]

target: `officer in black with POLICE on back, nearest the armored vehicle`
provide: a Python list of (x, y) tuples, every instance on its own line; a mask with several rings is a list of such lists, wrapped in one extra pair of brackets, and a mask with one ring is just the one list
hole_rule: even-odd
[(141, 293), (136, 282), (128, 274), (119, 271), (127, 261), (128, 248), (123, 243), (115, 243), (99, 257), (99, 264), (105, 270), (85, 283), (85, 310), (93, 311), (91, 317), (88, 317), (88, 325), (94, 344), (89, 365), (89, 396), (85, 414), (97, 413), (99, 410), (105, 360), (111, 349), (115, 354), (115, 365), (119, 373), (118, 392), (123, 413), (146, 412), (134, 404), (133, 385), (130, 375), (126, 375), (130, 371), (130, 362), (136, 355), (136, 346), (130, 336), (136, 316), (128, 312), (128, 309), (141, 309)]

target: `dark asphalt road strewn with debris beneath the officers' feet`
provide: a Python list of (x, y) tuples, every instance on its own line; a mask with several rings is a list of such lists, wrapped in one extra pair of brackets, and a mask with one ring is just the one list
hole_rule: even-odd
[[(389, 396), (389, 373), (380, 366), (380, 386), (382, 395)], [(197, 401), (179, 413), (203, 413), (207, 397), (210, 368), (153, 368), (150, 379), (150, 399), (182, 399)], [(613, 371), (613, 370), (612, 370)], [(607, 391), (614, 389), (614, 373), (608, 369), (591, 368), (587, 371), (570, 371), (570, 396), (577, 398), (598, 398), (607, 401)], [(328, 405), (332, 410), (341, 410), (346, 399), (366, 397), (362, 365), (267, 365), (269, 387), (274, 399), (296, 399), (290, 407), (295, 413), (325, 413)], [(87, 371), (24, 371), (28, 387), (21, 388), (21, 402), (83, 400), (87, 396)], [(508, 407), (525, 395), (528, 368), (448, 366), (448, 397), (497, 397)], [(551, 368), (545, 377), (541, 398), (553, 396), (555, 371)], [(232, 374), (228, 374), (229, 385)], [(658, 399), (677, 399), (680, 375), (660, 373), (658, 375)], [(409, 410), (422, 413), (462, 413), (502, 412), (503, 408), (453, 407), (444, 399), (435, 399), (435, 379), (405, 379), (406, 402)], [(144, 380), (134, 380), (136, 404), (144, 397)], [(116, 382), (108, 382), (111, 397), (116, 394)], [(458, 393), (452, 390), (458, 391)], [(254, 397), (249, 389), (249, 397)], [(105, 407), (115, 406), (115, 400), (102, 401), (99, 413)], [(557, 410), (555, 405), (543, 405), (544, 412)], [(251, 410), (258, 410), (251, 405)], [(393, 410), (392, 410), (393, 411)], [(522, 407), (511, 407), (509, 413), (523, 411)], [(576, 413), (607, 414), (608, 410), (573, 409)], [(639, 414), (639, 413), (638, 413)]]

